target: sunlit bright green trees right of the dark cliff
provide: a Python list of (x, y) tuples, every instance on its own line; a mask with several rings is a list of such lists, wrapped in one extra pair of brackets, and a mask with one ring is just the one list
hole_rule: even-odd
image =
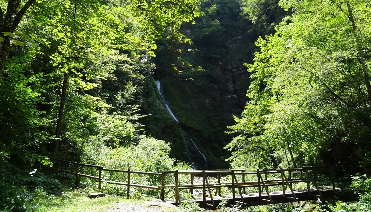
[[(227, 146), (236, 167), (370, 165), (369, 1), (285, 1), (260, 37), (242, 118)], [(243, 160), (249, 158), (250, 160)]]

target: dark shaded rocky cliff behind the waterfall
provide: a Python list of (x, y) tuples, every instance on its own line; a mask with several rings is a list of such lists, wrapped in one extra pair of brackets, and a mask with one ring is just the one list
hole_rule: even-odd
[[(225, 131), (233, 124), (232, 115), (239, 116), (246, 104), (250, 73), (243, 64), (251, 61), (257, 35), (247, 30), (250, 21), (239, 16), (238, 1), (207, 2), (203, 5), (205, 16), (183, 29), (193, 45), (171, 40), (158, 43), (154, 77), (161, 81), (164, 98), (179, 125), (171, 120), (166, 125), (163, 121), (145, 124), (152, 128), (148, 130), (152, 136), (172, 143), (171, 156), (187, 158), (183, 154), (186, 147), (180, 145), (184, 138), (168, 135), (184, 130), (206, 155), (209, 168), (227, 168), (224, 160), (229, 152), (223, 147), (232, 135)], [(166, 113), (164, 108), (161, 111)]]

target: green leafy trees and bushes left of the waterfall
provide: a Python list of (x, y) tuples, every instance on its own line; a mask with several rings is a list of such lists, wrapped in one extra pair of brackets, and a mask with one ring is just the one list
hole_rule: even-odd
[[(197, 0), (9, 0), (0, 7), (1, 209), (32, 210), (27, 203), (37, 191), (58, 190), (42, 174), (56, 158), (113, 166), (102, 158), (147, 141), (163, 145), (161, 167), (173, 165), (168, 144), (143, 135), (139, 119), (148, 114), (140, 105), (156, 40), (167, 32), (190, 42), (178, 29), (202, 15)], [(145, 164), (130, 168), (150, 169)]]

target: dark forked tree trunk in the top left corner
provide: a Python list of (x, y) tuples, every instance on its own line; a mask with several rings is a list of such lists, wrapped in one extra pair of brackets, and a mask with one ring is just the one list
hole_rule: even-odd
[(0, 36), (4, 39), (3, 42), (0, 42), (0, 86), (3, 80), (5, 63), (10, 52), (10, 36), (5, 36), (2, 32), (13, 33), (19, 25), (24, 13), (34, 2), (35, 0), (29, 0), (21, 8), (21, 0), (9, 0), (5, 16), (0, 7)]

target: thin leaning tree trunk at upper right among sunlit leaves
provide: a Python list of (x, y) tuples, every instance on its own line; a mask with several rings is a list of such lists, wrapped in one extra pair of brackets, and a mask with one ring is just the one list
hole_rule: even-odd
[(367, 87), (368, 100), (371, 101), (370, 77), (368, 76), (368, 71), (367, 71), (367, 67), (366, 67), (366, 64), (365, 64), (365, 59), (364, 59), (364, 56), (363, 56), (363, 53), (362, 53), (361, 46), (359, 45), (359, 41), (358, 41), (358, 37), (357, 37), (357, 26), (355, 25), (352, 9), (350, 8), (349, 2), (347, 2), (347, 7), (348, 7), (348, 13), (349, 13), (348, 18), (349, 18), (350, 22), (352, 23), (355, 42), (356, 42), (356, 45), (357, 45), (357, 48), (358, 48), (357, 50), (358, 50), (359, 61), (362, 64), (362, 70), (363, 70), (363, 74), (364, 74), (364, 78), (365, 78), (365, 84), (366, 84), (366, 87)]

